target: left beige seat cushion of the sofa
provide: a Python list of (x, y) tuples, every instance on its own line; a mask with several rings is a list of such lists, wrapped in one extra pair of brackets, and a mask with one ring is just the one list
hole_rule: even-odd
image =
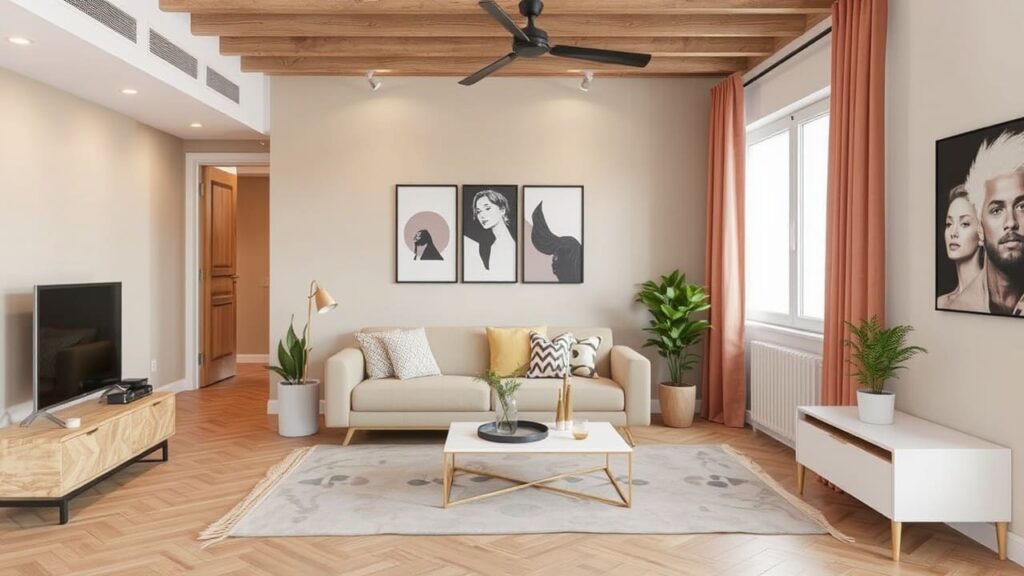
[(472, 376), (364, 380), (352, 389), (358, 412), (479, 412), (490, 410), (490, 388)]

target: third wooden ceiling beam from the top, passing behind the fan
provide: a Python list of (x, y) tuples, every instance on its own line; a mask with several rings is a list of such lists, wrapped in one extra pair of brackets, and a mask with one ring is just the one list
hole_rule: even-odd
[[(772, 38), (559, 38), (559, 44), (654, 56), (767, 56)], [(479, 57), (506, 53), (505, 38), (224, 37), (220, 53), (232, 56)]]

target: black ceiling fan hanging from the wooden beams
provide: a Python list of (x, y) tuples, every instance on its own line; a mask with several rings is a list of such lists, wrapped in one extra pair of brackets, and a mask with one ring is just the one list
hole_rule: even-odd
[(536, 58), (544, 54), (551, 54), (563, 58), (632, 66), (635, 68), (643, 68), (650, 61), (650, 54), (583, 48), (579, 46), (552, 46), (548, 43), (548, 33), (537, 28), (534, 23), (535, 18), (540, 16), (541, 11), (544, 10), (544, 2), (542, 0), (522, 0), (519, 2), (519, 13), (526, 16), (527, 19), (526, 26), (521, 29), (516, 26), (515, 22), (495, 0), (480, 0), (480, 7), (512, 35), (512, 51), (460, 80), (459, 83), (463, 86), (476, 84), (519, 57)]

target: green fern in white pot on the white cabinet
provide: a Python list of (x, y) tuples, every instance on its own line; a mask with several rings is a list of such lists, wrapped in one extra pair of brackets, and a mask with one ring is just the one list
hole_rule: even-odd
[(857, 390), (857, 415), (869, 424), (891, 424), (896, 411), (895, 393), (885, 389), (886, 380), (896, 378), (896, 371), (905, 369), (906, 362), (921, 353), (921, 346), (906, 344), (912, 326), (884, 328), (878, 316), (859, 324), (846, 323), (851, 338), (844, 340), (851, 352), (850, 363), (862, 386)]

